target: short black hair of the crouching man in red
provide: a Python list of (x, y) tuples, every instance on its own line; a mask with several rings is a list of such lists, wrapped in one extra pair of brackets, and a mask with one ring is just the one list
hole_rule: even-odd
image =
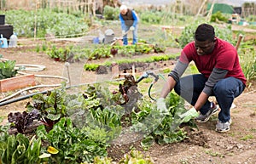
[(213, 41), (215, 37), (214, 28), (209, 24), (198, 25), (195, 31), (195, 40), (204, 42), (204, 41)]

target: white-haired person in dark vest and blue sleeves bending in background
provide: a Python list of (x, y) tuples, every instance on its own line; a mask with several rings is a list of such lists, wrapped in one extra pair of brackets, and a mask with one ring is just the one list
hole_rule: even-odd
[(132, 44), (137, 43), (137, 23), (138, 18), (134, 10), (127, 8), (125, 5), (121, 5), (119, 20), (121, 21), (123, 44), (128, 44), (127, 31), (132, 31)]

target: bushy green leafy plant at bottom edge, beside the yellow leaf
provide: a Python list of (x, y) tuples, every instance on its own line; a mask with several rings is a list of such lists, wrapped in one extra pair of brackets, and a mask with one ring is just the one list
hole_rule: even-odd
[[(88, 130), (88, 128), (87, 128)], [(107, 156), (108, 144), (104, 140), (93, 140), (88, 137), (90, 131), (73, 127), (70, 118), (61, 118), (49, 133), (44, 126), (37, 129), (38, 137), (58, 150), (57, 154), (49, 156), (49, 163), (81, 163), (92, 162), (96, 156)], [(47, 150), (44, 150), (45, 154)]]

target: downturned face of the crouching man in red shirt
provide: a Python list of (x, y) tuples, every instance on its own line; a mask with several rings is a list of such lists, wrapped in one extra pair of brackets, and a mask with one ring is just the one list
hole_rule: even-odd
[(207, 41), (201, 42), (195, 39), (195, 49), (197, 54), (199, 55), (211, 54), (215, 46), (215, 41), (216, 39), (214, 39), (213, 41), (207, 40)]

